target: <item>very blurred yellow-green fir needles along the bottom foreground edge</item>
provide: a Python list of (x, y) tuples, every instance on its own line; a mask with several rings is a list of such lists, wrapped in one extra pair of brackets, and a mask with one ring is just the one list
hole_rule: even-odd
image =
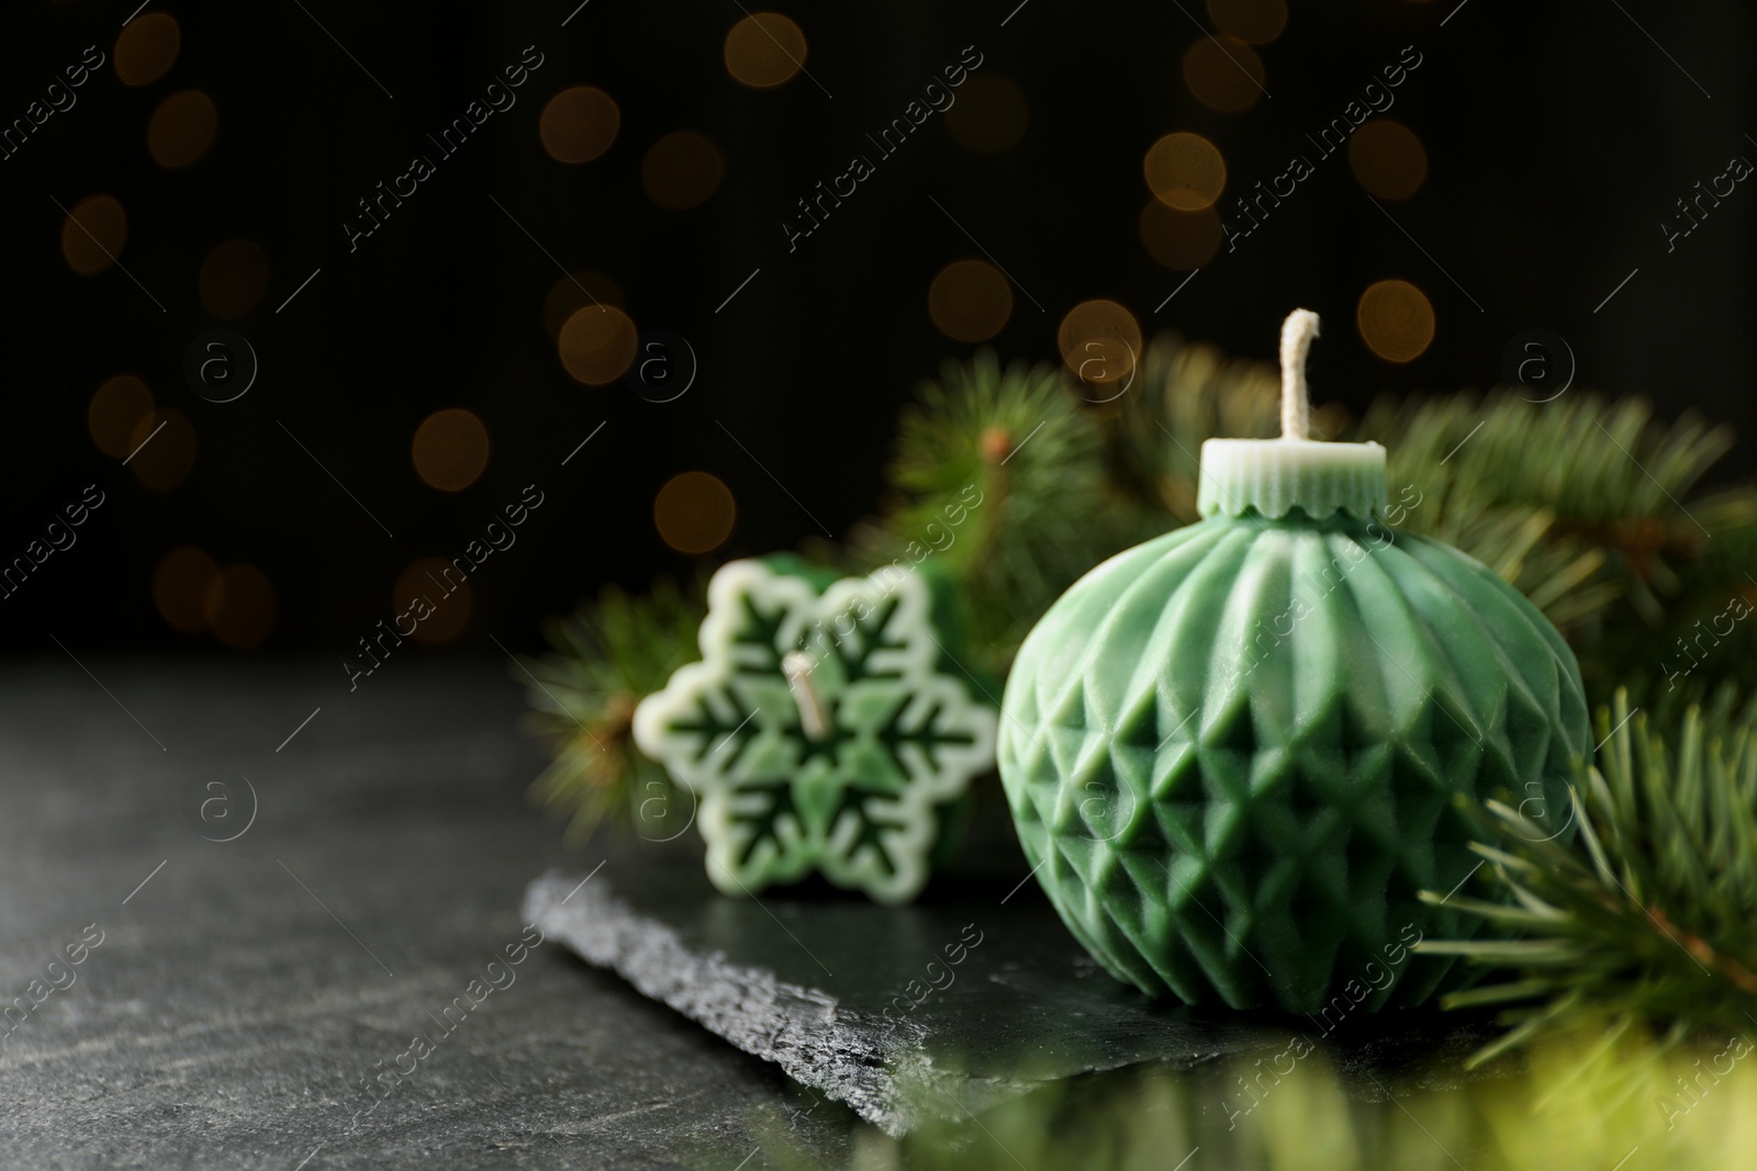
[[(1269, 1046), (1189, 1067), (1151, 1062), (1045, 1081), (984, 1108), (947, 1094), (903, 1138), (799, 1087), (757, 1103), (736, 1138), (680, 1157), (724, 1171), (750, 1155), (806, 1171), (1652, 1171), (1750, 1167), (1757, 1062), (1743, 1038), (1666, 1046), (1639, 1029), (1581, 1029), (1460, 1080), (1450, 1052), (1409, 1071)], [(1298, 1034), (1293, 1022), (1288, 1034)], [(1753, 1031), (1757, 1032), (1757, 1031)], [(845, 1138), (843, 1138), (845, 1136)], [(838, 1157), (838, 1148), (845, 1155)], [(1639, 1155), (1630, 1159), (1639, 1148)], [(754, 1166), (754, 1162), (752, 1162)]]

